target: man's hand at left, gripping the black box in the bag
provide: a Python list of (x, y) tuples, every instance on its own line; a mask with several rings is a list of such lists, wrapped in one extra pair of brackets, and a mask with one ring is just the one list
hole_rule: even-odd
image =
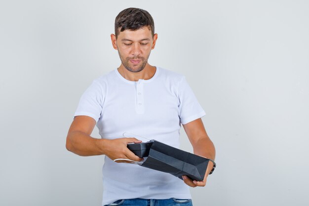
[[(134, 153), (127, 148), (127, 144), (141, 143), (141, 142), (142, 142), (141, 140), (138, 140), (136, 138), (104, 139), (102, 147), (105, 155), (108, 156), (111, 160), (129, 159), (140, 162), (144, 159), (134, 155)], [(117, 163), (131, 163), (131, 162), (119, 160), (117, 161)]]

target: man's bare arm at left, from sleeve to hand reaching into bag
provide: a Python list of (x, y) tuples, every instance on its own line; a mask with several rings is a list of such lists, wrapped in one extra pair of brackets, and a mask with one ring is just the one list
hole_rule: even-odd
[(113, 140), (93, 138), (90, 134), (95, 124), (95, 120), (91, 117), (75, 117), (67, 136), (67, 150), (80, 156), (106, 155), (112, 160), (119, 158), (134, 161), (143, 160), (127, 149), (128, 143), (140, 143), (140, 140), (136, 138), (119, 138)]

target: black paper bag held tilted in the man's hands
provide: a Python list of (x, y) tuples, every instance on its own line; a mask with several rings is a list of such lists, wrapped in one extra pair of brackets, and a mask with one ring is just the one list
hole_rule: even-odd
[[(156, 140), (141, 143), (141, 145), (142, 146), (138, 146), (138, 144), (128, 145), (129, 149), (130, 147), (131, 149), (132, 147), (141, 148), (144, 150), (142, 153), (148, 155), (143, 163), (137, 162), (139, 165), (170, 173), (180, 179), (182, 179), (182, 175), (187, 175), (193, 180), (203, 181), (209, 161), (213, 162), (207, 158), (185, 152)], [(141, 154), (138, 150), (132, 150), (132, 152)], [(212, 171), (215, 166), (216, 164), (214, 163)], [(210, 173), (212, 173), (212, 171)]]

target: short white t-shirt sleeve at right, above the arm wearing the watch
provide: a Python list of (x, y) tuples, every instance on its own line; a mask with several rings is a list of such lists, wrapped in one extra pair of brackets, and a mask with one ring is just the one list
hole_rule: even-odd
[(178, 87), (179, 94), (179, 118), (181, 124), (187, 124), (205, 116), (205, 111), (198, 103), (191, 87), (183, 77)]

